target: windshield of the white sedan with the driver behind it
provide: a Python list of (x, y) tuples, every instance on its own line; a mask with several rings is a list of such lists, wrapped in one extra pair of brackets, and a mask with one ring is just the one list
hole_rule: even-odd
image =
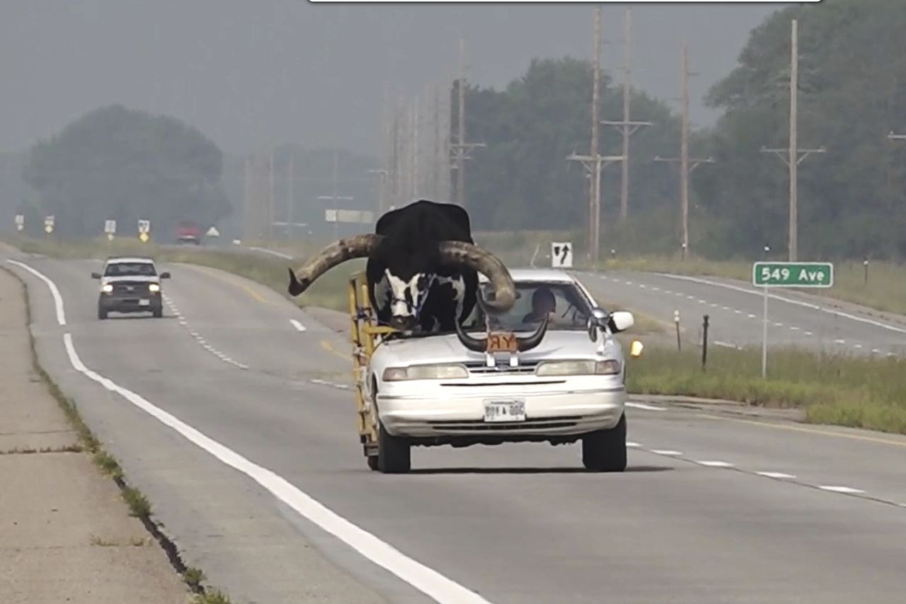
[[(487, 284), (482, 284), (484, 291)], [(508, 312), (493, 316), (493, 329), (535, 331), (544, 313), (550, 313), (548, 330), (585, 330), (591, 307), (573, 283), (516, 282), (516, 304)], [(467, 330), (485, 329), (484, 313), (476, 306), (465, 323)]]

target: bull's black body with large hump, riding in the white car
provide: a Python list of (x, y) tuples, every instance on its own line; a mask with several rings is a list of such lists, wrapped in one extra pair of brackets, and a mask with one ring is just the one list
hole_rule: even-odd
[(418, 306), (418, 292), (429, 286), (415, 317), (419, 331), (455, 331), (455, 321), (466, 321), (477, 302), (478, 274), (461, 264), (442, 263), (439, 254), (439, 243), (443, 241), (475, 243), (465, 209), (420, 200), (381, 216), (375, 233), (384, 237), (368, 258), (365, 271), (378, 321), (392, 324), (390, 275), (400, 280), (397, 283), (416, 283), (415, 288), (401, 292), (397, 300), (410, 308)]

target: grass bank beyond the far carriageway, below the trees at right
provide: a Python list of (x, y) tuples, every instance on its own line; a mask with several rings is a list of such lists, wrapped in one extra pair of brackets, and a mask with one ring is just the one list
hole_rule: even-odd
[[(668, 256), (609, 259), (599, 265), (603, 270), (649, 271), (689, 276), (712, 276), (752, 283), (752, 263), (712, 261), (700, 258), (679, 260)], [(800, 290), (815, 293), (814, 290)], [(834, 286), (823, 289), (823, 296), (843, 302), (862, 304), (878, 311), (906, 314), (906, 266), (890, 262), (869, 264), (868, 283), (861, 262), (834, 263)]]

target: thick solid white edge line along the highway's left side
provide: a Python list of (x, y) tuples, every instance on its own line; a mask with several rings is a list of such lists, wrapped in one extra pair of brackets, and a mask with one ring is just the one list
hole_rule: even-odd
[[(34, 273), (37, 273), (36, 271)], [(40, 273), (38, 273), (40, 274)], [(43, 276), (43, 275), (42, 275)], [(43, 277), (44, 283), (50, 287), (53, 282), (47, 277)], [(50, 287), (51, 292), (56, 290), (56, 286)], [(60, 308), (63, 303), (61, 299)], [(58, 317), (63, 316), (62, 313)], [(291, 484), (280, 475), (276, 475), (265, 467), (256, 465), (247, 460), (242, 455), (237, 454), (232, 449), (221, 445), (216, 440), (202, 434), (198, 429), (189, 426), (177, 417), (169, 414), (167, 411), (152, 405), (145, 398), (127, 388), (122, 388), (111, 379), (101, 376), (99, 373), (85, 367), (82, 359), (79, 358), (72, 342), (72, 334), (63, 334), (63, 346), (69, 355), (69, 361), (72, 369), (82, 373), (86, 378), (92, 379), (111, 392), (116, 392), (122, 398), (128, 400), (135, 407), (148, 413), (151, 417), (158, 419), (165, 426), (173, 428), (178, 434), (184, 436), (193, 445), (207, 451), (215, 456), (225, 465), (229, 465), (242, 472), (256, 483), (261, 484), (267, 491), (274, 494), (277, 499), (286, 503), (297, 513), (312, 523), (320, 526), (324, 531), (330, 532), (333, 536), (346, 543), (355, 551), (361, 553), (368, 560), (378, 564), (386, 570), (389, 570), (401, 580), (406, 581), (412, 587), (427, 594), (432, 599), (441, 603), (458, 604), (475, 603), (490, 604), (487, 599), (482, 598), (477, 593), (467, 590), (457, 582), (448, 579), (440, 574), (437, 570), (421, 564), (419, 561), (411, 559), (399, 550), (392, 547), (387, 542), (382, 542), (370, 532), (362, 530), (360, 527), (349, 522), (337, 513), (325, 507), (322, 503), (316, 501), (308, 494), (305, 494), (294, 484)]]

